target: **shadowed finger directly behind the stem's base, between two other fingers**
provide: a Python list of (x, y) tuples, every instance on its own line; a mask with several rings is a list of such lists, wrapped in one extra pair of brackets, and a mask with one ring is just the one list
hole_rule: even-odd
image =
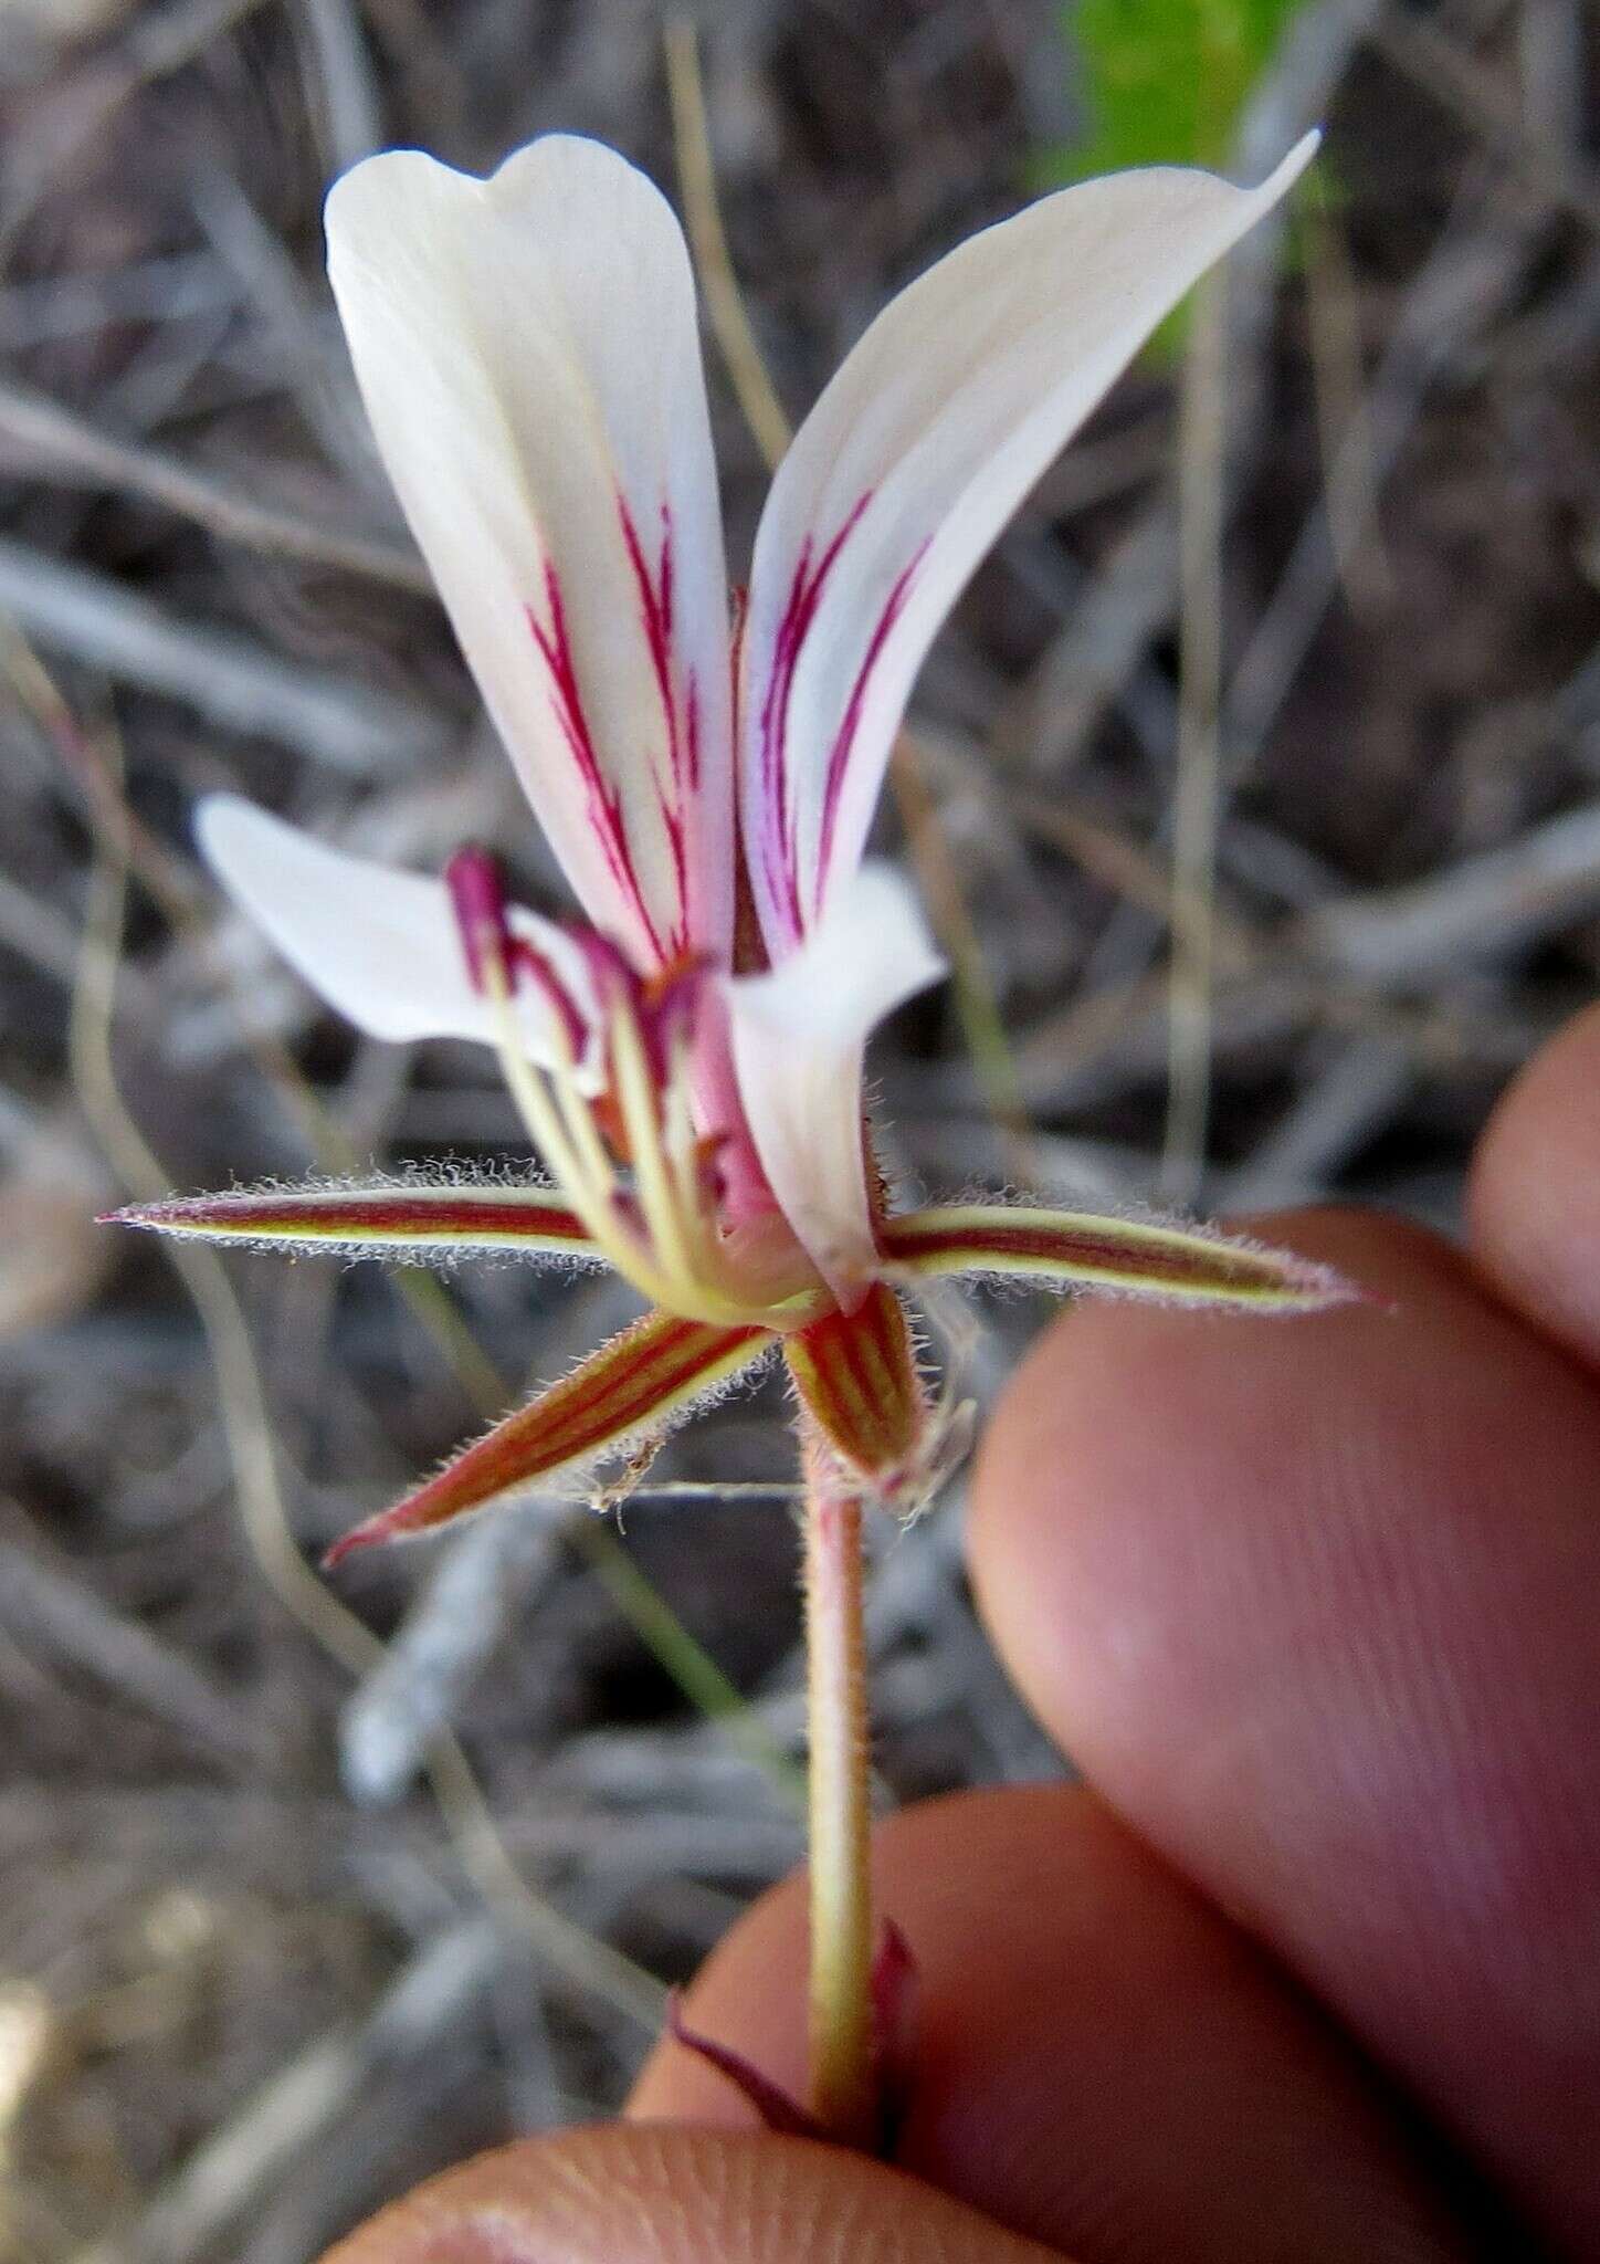
[[(876, 1836), (917, 1958), (896, 2160), (1086, 2264), (1457, 2255), (1369, 2074), (1218, 1911), (1082, 1786), (926, 1802)], [(690, 2026), (803, 2090), (803, 1881), (720, 1945)], [(663, 2042), (629, 2112), (749, 2126)]]

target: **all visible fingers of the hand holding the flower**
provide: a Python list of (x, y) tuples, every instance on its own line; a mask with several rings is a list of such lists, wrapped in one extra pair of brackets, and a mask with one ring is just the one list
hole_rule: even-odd
[[(1600, 1010), (1489, 1123), (1466, 1252), (1267, 1232), (1374, 1302), (1084, 1304), (989, 1426), (975, 1592), (1086, 1782), (878, 1836), (898, 2164), (756, 2133), (668, 2042), (627, 2121), (337, 2264), (1600, 2257)], [(799, 2090), (801, 1972), (790, 1881), (686, 2015)]]

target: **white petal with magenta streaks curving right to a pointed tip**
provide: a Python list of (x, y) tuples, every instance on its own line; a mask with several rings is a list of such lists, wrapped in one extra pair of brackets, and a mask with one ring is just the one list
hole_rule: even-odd
[(1313, 149), (1308, 136), (1256, 190), (1163, 165), (1043, 197), (901, 292), (812, 408), (756, 537), (742, 654), (742, 831), (774, 960), (855, 865), (962, 584)]

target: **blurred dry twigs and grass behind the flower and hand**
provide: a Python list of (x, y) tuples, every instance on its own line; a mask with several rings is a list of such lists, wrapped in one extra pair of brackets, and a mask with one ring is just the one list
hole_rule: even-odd
[[(1580, 0), (731, 0), (708, 145), (803, 412), (885, 294), (1107, 165), (1328, 147), (1116, 389), (923, 675), (887, 849), (960, 983), (896, 1166), (1446, 1232), (1600, 962), (1600, 152)], [(625, 1524), (306, 1569), (622, 1318), (597, 1281), (217, 1266), (124, 1191), (516, 1150), (487, 1062), (321, 1017), (197, 872), (215, 786), (554, 876), (353, 401), (333, 172), (602, 134), (679, 179), (650, 0), (0, 0), (0, 2255), (301, 2264), (613, 2106), (799, 1854), (763, 1401)], [(688, 154), (693, 156), (693, 136)], [(731, 552), (760, 448), (713, 367)], [(1043, 1304), (946, 1315), (984, 1399)], [(677, 1487), (677, 1492), (674, 1492)], [(1064, 1768), (960, 1567), (874, 1592), (885, 1800)]]

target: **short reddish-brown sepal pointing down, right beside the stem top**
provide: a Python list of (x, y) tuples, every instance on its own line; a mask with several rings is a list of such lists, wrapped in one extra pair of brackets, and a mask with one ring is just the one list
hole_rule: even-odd
[(844, 1469), (894, 1499), (919, 1483), (928, 1449), (928, 1399), (905, 1306), (874, 1281), (853, 1313), (826, 1313), (783, 1338), (801, 1406)]

